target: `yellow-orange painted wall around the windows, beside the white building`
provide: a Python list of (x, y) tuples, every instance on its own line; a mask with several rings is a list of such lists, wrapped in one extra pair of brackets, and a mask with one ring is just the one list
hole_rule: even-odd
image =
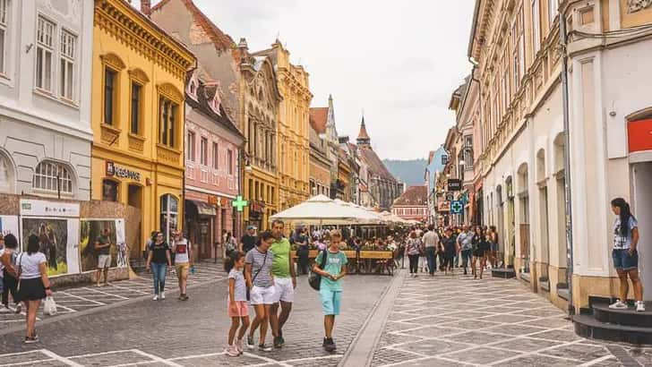
[[(114, 12), (121, 16), (117, 17)], [(118, 21), (117, 19), (121, 20)], [(140, 27), (144, 36), (126, 38), (126, 27)], [(120, 31), (118, 31), (120, 30)], [(161, 43), (153, 46), (152, 39)], [(93, 30), (92, 117), (94, 133), (91, 197), (102, 199), (102, 181), (119, 183), (118, 201), (128, 203), (129, 184), (142, 187), (142, 242), (159, 230), (160, 197), (171, 194), (179, 202), (178, 228), (183, 226), (184, 75), (194, 57), (149, 20), (120, 0), (96, 3)], [(104, 74), (117, 72), (116, 124), (104, 124)], [(141, 129), (130, 132), (132, 80), (142, 83)], [(159, 97), (178, 104), (173, 149), (159, 144)], [(107, 161), (140, 174), (140, 180), (107, 176)], [(134, 243), (135, 244), (135, 243)]]

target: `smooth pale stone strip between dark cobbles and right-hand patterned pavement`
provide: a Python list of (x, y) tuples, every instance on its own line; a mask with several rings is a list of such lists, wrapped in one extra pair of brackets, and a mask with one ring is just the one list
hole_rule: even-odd
[[(373, 305), (360, 331), (348, 346), (347, 353), (339, 361), (338, 367), (344, 366), (371, 366), (373, 352), (382, 337), (382, 331), (387, 324), (391, 306), (399, 294), (399, 287), (403, 285), (407, 272), (399, 270), (389, 286), (385, 287), (378, 301)], [(372, 320), (374, 322), (372, 322)], [(365, 339), (362, 336), (365, 335)]]

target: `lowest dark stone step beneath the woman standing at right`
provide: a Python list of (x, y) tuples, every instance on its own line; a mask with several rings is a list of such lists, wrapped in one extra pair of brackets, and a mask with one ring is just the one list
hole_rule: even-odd
[(610, 324), (588, 315), (575, 315), (572, 317), (572, 321), (575, 324), (575, 332), (580, 337), (635, 345), (652, 345), (652, 328)]

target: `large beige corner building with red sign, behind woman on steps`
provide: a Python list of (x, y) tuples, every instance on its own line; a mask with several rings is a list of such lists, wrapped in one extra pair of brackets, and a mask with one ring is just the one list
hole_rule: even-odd
[[(559, 46), (558, 13), (568, 28), (567, 52)], [(485, 223), (498, 227), (503, 260), (517, 276), (564, 308), (570, 296), (578, 309), (588, 306), (589, 296), (617, 293), (611, 199), (631, 201), (641, 228), (652, 224), (652, 144), (637, 145), (642, 132), (628, 135), (632, 129), (645, 131), (652, 117), (651, 22), (650, 1), (476, 2), (468, 56), (477, 62), (480, 81), (483, 133), (476, 164), (484, 180)], [(564, 56), (571, 172), (564, 169)], [(571, 292), (566, 289), (567, 178)], [(650, 242), (641, 234), (640, 270), (644, 283), (651, 284), (652, 262), (644, 255)]]

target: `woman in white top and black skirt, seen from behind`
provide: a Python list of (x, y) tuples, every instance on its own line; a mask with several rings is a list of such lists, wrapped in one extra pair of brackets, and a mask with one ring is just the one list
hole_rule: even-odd
[(36, 314), (39, 311), (41, 300), (47, 295), (52, 295), (50, 279), (47, 278), (47, 259), (43, 252), (39, 252), (39, 237), (30, 235), (27, 240), (27, 252), (22, 252), (16, 260), (20, 279), (17, 298), (25, 304), (27, 309), (27, 337), (25, 343), (31, 344), (39, 341), (34, 332)]

